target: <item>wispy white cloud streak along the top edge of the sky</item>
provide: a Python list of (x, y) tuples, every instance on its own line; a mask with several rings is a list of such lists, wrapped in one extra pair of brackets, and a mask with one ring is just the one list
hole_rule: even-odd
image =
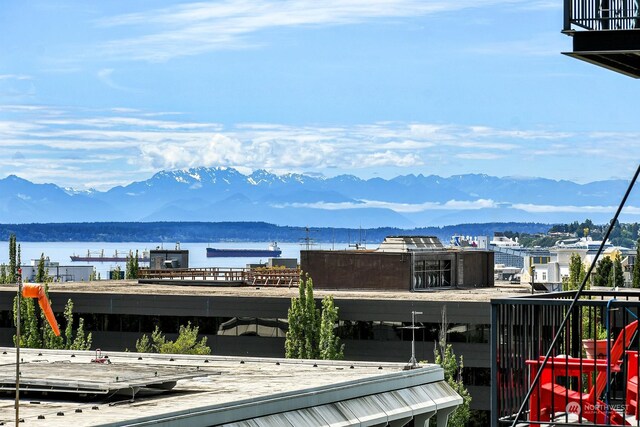
[(357, 24), (380, 18), (413, 17), (523, 0), (227, 0), (186, 3), (113, 16), (102, 27), (134, 27), (136, 37), (112, 40), (99, 49), (122, 59), (166, 61), (212, 50), (254, 46), (251, 36), (272, 28)]

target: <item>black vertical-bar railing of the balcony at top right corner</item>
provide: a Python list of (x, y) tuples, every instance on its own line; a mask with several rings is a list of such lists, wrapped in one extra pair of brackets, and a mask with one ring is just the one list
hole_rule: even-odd
[(565, 0), (564, 30), (631, 30), (640, 28), (637, 0)]

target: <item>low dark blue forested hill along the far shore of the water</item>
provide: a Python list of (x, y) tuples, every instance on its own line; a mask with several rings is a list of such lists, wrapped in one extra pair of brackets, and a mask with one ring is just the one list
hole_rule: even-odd
[(392, 235), (437, 236), (448, 244), (452, 235), (493, 236), (495, 231), (544, 233), (549, 224), (462, 224), (414, 229), (328, 228), (278, 226), (264, 222), (95, 222), (48, 224), (0, 224), (0, 240), (14, 233), (19, 242), (314, 242), (366, 243), (371, 247)]

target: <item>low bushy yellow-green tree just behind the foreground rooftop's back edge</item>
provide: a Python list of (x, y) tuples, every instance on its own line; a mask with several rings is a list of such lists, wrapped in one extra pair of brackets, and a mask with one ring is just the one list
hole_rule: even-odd
[(160, 328), (156, 326), (151, 339), (145, 334), (136, 341), (136, 351), (139, 353), (163, 353), (163, 354), (211, 354), (211, 348), (207, 346), (207, 337), (198, 340), (198, 326), (180, 325), (178, 338), (175, 341), (167, 340)]

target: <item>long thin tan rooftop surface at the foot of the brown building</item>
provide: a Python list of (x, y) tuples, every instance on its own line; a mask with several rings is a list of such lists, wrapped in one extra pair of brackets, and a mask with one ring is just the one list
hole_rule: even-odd
[[(0, 285), (0, 291), (16, 289), (15, 285)], [(154, 294), (154, 295), (202, 295), (233, 297), (293, 298), (298, 296), (298, 287), (287, 286), (221, 286), (182, 284), (139, 284), (135, 280), (101, 280), (95, 282), (53, 283), (50, 292), (77, 292), (94, 294)], [(15, 292), (15, 291), (14, 291)], [(452, 288), (411, 292), (409, 290), (378, 291), (369, 289), (322, 290), (314, 289), (314, 296), (322, 298), (333, 295), (336, 299), (414, 300), (414, 301), (474, 301), (489, 302), (493, 298), (526, 295), (531, 293), (529, 285), (496, 282), (488, 288)]]

